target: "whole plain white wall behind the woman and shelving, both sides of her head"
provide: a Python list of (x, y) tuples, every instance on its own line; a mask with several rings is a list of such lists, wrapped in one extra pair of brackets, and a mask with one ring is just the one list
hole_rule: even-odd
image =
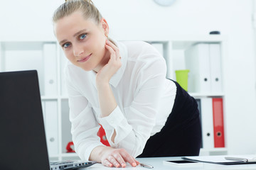
[[(0, 41), (55, 40), (51, 15), (60, 2), (4, 1)], [(256, 154), (252, 0), (177, 0), (169, 7), (157, 6), (153, 0), (97, 0), (95, 5), (110, 25), (110, 36), (119, 40), (206, 35), (210, 30), (227, 35), (224, 81), (229, 154)]]

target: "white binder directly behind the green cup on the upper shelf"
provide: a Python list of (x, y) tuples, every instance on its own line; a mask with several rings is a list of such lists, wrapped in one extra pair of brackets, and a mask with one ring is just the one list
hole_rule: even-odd
[(210, 55), (207, 43), (198, 43), (185, 50), (189, 92), (210, 92)]

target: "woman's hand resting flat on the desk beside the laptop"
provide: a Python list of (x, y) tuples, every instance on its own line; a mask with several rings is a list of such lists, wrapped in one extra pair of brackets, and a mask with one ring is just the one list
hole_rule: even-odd
[(101, 163), (108, 167), (122, 167), (126, 166), (126, 162), (132, 166), (139, 165), (139, 162), (134, 159), (125, 149), (114, 149), (106, 147), (102, 152)]

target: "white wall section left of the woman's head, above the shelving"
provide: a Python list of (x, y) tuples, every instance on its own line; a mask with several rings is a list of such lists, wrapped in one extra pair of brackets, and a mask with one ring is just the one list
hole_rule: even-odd
[(1, 1), (0, 40), (54, 40), (51, 16), (58, 1)]

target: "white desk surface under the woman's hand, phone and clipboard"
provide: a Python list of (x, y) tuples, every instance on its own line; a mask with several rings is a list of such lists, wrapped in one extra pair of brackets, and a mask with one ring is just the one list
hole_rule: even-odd
[[(152, 170), (196, 170), (196, 169), (207, 169), (207, 170), (218, 170), (218, 169), (228, 169), (228, 170), (245, 170), (245, 169), (256, 169), (256, 164), (246, 164), (246, 165), (219, 165), (219, 164), (207, 164), (207, 163), (202, 163), (202, 166), (198, 167), (193, 167), (193, 166), (188, 166), (188, 167), (177, 167), (177, 166), (172, 166), (169, 164), (164, 164), (163, 161), (168, 161), (168, 160), (180, 160), (180, 157), (157, 157), (157, 158), (138, 158), (137, 160), (141, 163), (145, 164), (150, 164), (154, 166), (154, 169)], [(117, 168), (108, 168), (106, 166), (103, 166), (102, 164), (95, 164), (92, 165), (88, 168), (87, 170), (102, 170), (102, 169), (117, 169)], [(122, 168), (119, 168), (122, 169)], [(144, 168), (142, 166), (137, 166), (137, 167), (132, 167), (131, 165), (127, 164), (127, 167), (124, 168), (125, 170), (150, 170), (147, 168)]]

